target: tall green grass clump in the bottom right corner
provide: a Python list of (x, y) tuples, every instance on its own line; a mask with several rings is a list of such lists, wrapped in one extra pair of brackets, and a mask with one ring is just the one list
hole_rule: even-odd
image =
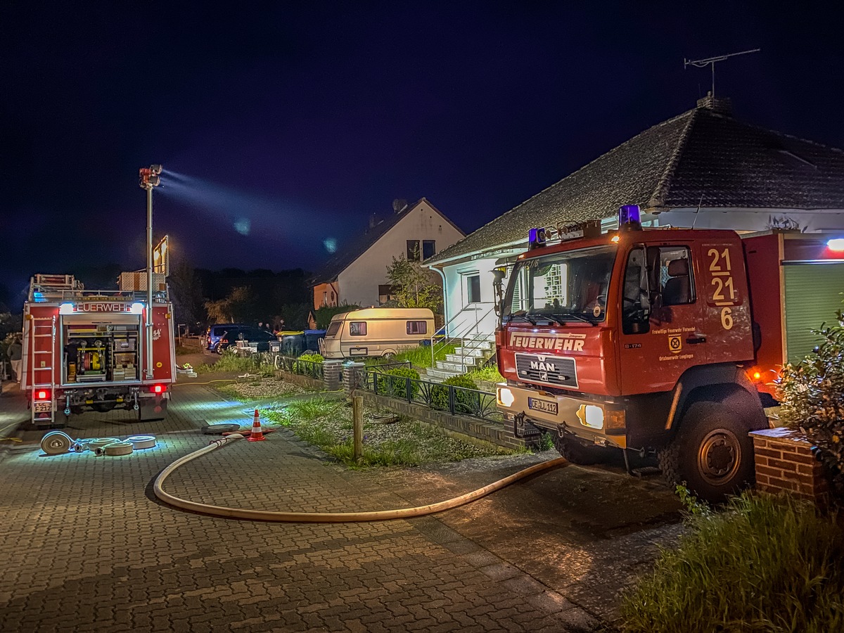
[(625, 594), (627, 633), (844, 630), (844, 529), (790, 497), (745, 493), (700, 511)]

